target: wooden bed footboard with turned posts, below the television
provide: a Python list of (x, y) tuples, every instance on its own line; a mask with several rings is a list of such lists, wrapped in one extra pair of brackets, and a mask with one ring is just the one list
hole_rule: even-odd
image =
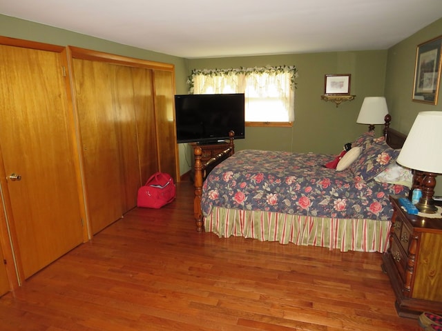
[(220, 162), (224, 161), (228, 157), (231, 157), (235, 153), (235, 145), (233, 143), (235, 133), (229, 132), (229, 147), (220, 152), (215, 157), (212, 157), (206, 163), (201, 162), (202, 150), (200, 147), (193, 149), (195, 157), (195, 176), (193, 179), (193, 186), (195, 188), (195, 197), (193, 198), (193, 215), (195, 217), (196, 230), (202, 232), (204, 225), (202, 223), (202, 210), (201, 210), (201, 194), (202, 183), (209, 172), (215, 168)]

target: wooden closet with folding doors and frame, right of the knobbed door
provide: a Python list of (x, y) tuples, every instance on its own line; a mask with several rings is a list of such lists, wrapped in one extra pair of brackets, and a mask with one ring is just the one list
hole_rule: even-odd
[(173, 66), (69, 50), (88, 223), (95, 234), (136, 207), (134, 192), (154, 172), (177, 180)]

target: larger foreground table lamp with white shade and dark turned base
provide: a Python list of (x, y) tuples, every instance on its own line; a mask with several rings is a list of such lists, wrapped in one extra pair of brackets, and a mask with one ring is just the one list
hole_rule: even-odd
[[(442, 112), (419, 112), (405, 139), (397, 162), (416, 170), (421, 176), (422, 197), (416, 208), (420, 212), (434, 213), (433, 195), (436, 176), (442, 173)], [(416, 174), (414, 174), (416, 179)]]

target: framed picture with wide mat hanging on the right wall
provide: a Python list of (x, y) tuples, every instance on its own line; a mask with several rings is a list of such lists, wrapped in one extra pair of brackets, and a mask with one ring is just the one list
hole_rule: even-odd
[(442, 36), (417, 46), (413, 101), (437, 104), (441, 81)]

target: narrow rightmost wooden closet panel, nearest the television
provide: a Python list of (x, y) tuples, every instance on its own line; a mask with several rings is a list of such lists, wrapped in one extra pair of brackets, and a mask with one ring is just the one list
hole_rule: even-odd
[(172, 71), (155, 70), (155, 120), (160, 171), (169, 173), (175, 181), (180, 179), (177, 168), (178, 150), (175, 134), (175, 77)]

